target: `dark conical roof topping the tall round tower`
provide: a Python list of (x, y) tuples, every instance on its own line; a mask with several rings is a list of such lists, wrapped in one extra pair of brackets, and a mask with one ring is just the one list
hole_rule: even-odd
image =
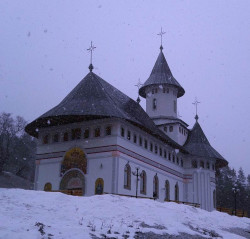
[(149, 76), (149, 78), (146, 80), (146, 82), (143, 84), (143, 86), (139, 90), (139, 94), (146, 98), (146, 88), (147, 86), (151, 85), (172, 85), (175, 86), (178, 89), (177, 97), (181, 97), (184, 95), (185, 90), (182, 88), (182, 86), (178, 83), (178, 81), (173, 77), (171, 70), (168, 66), (168, 63), (166, 61), (166, 58), (162, 52), (162, 48), (160, 51), (160, 54), (155, 62), (154, 68)]

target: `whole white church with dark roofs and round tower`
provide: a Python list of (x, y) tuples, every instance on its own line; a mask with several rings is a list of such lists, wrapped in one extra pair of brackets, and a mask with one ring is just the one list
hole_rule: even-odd
[(200, 204), (212, 211), (215, 169), (228, 162), (210, 145), (198, 116), (177, 117), (185, 94), (160, 47), (140, 100), (89, 73), (57, 106), (28, 124), (38, 139), (35, 190), (112, 193)]

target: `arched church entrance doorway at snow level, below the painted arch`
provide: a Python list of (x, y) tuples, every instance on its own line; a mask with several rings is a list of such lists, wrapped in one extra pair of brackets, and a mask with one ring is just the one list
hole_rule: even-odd
[(69, 195), (82, 196), (85, 191), (84, 175), (79, 170), (66, 173), (60, 183), (60, 191)]

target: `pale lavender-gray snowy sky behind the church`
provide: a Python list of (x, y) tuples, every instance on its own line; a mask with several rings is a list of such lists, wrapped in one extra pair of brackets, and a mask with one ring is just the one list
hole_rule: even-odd
[[(210, 143), (250, 174), (250, 2), (1, 0), (0, 112), (32, 121), (94, 72), (133, 99), (164, 54), (186, 94), (182, 120), (199, 122)], [(145, 106), (145, 100), (142, 105)], [(145, 108), (145, 107), (144, 107)]]

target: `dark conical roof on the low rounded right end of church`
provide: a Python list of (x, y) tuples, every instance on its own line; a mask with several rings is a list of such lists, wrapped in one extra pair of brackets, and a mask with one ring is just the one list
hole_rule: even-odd
[(218, 167), (224, 167), (228, 164), (228, 162), (210, 145), (198, 121), (194, 124), (183, 147), (192, 155), (216, 159)]

